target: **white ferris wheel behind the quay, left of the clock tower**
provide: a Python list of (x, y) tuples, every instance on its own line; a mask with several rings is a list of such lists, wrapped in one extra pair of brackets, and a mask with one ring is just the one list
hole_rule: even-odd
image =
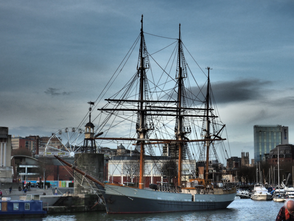
[(52, 134), (48, 140), (44, 156), (58, 155), (74, 157), (83, 148), (85, 131), (77, 127), (66, 127)]

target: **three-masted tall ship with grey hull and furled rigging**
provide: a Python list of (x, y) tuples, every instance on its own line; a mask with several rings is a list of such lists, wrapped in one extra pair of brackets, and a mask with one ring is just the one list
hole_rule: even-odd
[[(68, 165), (95, 183), (103, 195), (107, 213), (226, 208), (234, 201), (236, 188), (229, 180), (221, 177), (213, 180), (210, 177), (212, 162), (218, 167), (216, 171), (222, 170), (217, 151), (224, 147), (226, 140), (222, 138), (225, 125), (217, 116), (211, 91), (211, 68), (207, 67), (205, 72), (200, 69), (205, 75), (204, 86), (198, 85), (195, 76), (189, 74), (191, 70), (184, 57), (181, 25), (179, 38), (173, 43), (175, 47), (172, 56), (167, 59), (168, 65), (161, 66), (159, 62), (155, 62), (159, 68), (151, 68), (151, 59), (154, 60), (156, 53), (161, 50), (152, 54), (147, 51), (143, 15), (141, 23), (137, 70), (135, 69), (132, 79), (127, 81), (122, 90), (101, 101), (105, 105), (97, 109), (99, 115), (95, 119), (100, 119), (100, 123), (96, 135), (92, 137), (95, 141), (109, 142), (108, 144), (123, 142), (133, 150), (129, 154), (132, 159), (128, 160), (128, 171), (132, 171), (129, 182), (99, 181), (80, 171), (75, 165)], [(127, 56), (126, 60), (128, 58)], [(160, 56), (158, 58), (160, 61), (164, 60)], [(155, 73), (155, 70), (160, 72)], [(114, 83), (110, 82), (106, 88), (111, 84)], [(222, 154), (226, 154), (225, 150), (222, 151)], [(195, 159), (196, 153), (198, 159)], [(145, 186), (146, 159), (154, 160), (152, 170), (164, 173), (162, 162), (165, 156), (169, 156), (170, 161), (175, 163), (169, 169), (176, 174), (167, 182), (162, 179), (153, 180), (149, 186)], [(57, 156), (56, 158), (60, 159)], [(183, 161), (189, 162), (188, 169), (186, 165), (183, 168)], [(185, 170), (191, 176), (184, 182)]]

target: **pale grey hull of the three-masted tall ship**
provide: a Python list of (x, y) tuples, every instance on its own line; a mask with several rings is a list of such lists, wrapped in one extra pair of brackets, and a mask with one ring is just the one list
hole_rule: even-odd
[(224, 209), (230, 205), (236, 192), (226, 195), (194, 195), (137, 189), (125, 186), (102, 187), (107, 213), (156, 213), (210, 209)]

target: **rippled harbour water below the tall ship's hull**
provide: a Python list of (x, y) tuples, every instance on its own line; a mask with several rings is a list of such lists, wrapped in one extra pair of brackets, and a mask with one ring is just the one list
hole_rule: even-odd
[(198, 212), (175, 212), (175, 213), (152, 213), (152, 214), (107, 214), (106, 212), (83, 212), (49, 214), (45, 218), (11, 218), (1, 220), (26, 220), (26, 221), (76, 221), (76, 220), (275, 220), (283, 203), (273, 201), (257, 201), (251, 199), (236, 199), (227, 209), (198, 211)]

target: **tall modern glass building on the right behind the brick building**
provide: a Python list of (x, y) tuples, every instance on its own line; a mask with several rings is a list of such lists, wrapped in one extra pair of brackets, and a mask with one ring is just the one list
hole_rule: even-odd
[(279, 144), (288, 144), (288, 127), (281, 125), (254, 125), (254, 162), (262, 161)]

